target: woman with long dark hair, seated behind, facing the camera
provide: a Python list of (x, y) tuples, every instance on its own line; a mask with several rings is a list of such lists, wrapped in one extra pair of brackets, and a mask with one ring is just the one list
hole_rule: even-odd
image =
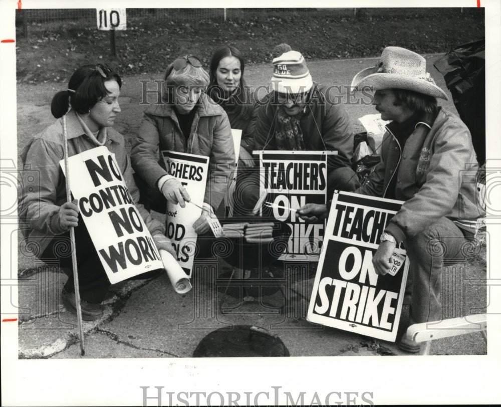
[(245, 85), (245, 61), (238, 49), (231, 45), (219, 47), (210, 60), (209, 88), (207, 94), (228, 115), (232, 129), (242, 130), (239, 167), (252, 166), (254, 134), (249, 128), (254, 108), (254, 92)]

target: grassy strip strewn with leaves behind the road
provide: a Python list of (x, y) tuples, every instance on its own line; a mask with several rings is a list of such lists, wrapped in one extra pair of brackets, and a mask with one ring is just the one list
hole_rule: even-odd
[(195, 14), (189, 20), (182, 10), (146, 17), (131, 12), (127, 30), (115, 33), (116, 58), (110, 56), (110, 33), (98, 31), (93, 20), (34, 22), (28, 38), (18, 27), (18, 81), (67, 82), (75, 67), (92, 62), (106, 62), (122, 75), (157, 73), (187, 53), (207, 66), (222, 44), (240, 49), (247, 64), (259, 64), (269, 63), (282, 42), (307, 60), (327, 60), (374, 57), (389, 45), (443, 52), (484, 36), (483, 9), (353, 10), (228, 9), (225, 22)]

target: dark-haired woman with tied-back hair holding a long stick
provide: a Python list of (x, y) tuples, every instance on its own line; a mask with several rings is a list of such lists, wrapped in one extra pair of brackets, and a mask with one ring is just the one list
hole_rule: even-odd
[[(68, 274), (62, 300), (65, 308), (76, 314), (72, 260), (69, 253), (60, 250), (68, 246), (69, 230), (75, 228), (82, 318), (88, 321), (103, 315), (100, 303), (110, 281), (79, 215), (77, 200), (66, 199), (65, 177), (59, 165), (64, 158), (65, 138), (68, 156), (98, 146), (106, 146), (115, 154), (129, 193), (156, 246), (174, 254), (172, 244), (163, 235), (163, 226), (137, 203), (139, 191), (125, 152), (124, 138), (112, 127), (120, 113), (121, 86), (120, 76), (105, 65), (77, 69), (68, 89), (58, 92), (52, 100), (51, 111), (58, 120), (31, 139), (21, 154), (24, 167), (29, 169), (21, 175), (23, 196), (19, 203), (20, 221), (26, 226), (23, 230), (28, 244), (40, 260), (57, 262)], [(36, 182), (33, 171), (39, 175)], [(151, 272), (141, 275), (150, 276)]]

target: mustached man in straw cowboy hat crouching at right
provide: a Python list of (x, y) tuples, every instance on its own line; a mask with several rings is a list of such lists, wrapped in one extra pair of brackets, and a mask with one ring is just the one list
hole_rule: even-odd
[[(475, 219), (484, 215), (476, 205), (476, 184), (462, 179), (465, 168), (476, 165), (470, 133), (437, 106), (436, 98), (447, 96), (426, 72), (425, 59), (412, 51), (385, 48), (378, 64), (355, 75), (352, 86), (375, 90), (372, 104), (383, 120), (391, 120), (381, 161), (355, 192), (404, 201), (381, 235), (374, 269), (386, 274), (395, 246), (403, 242), (412, 279), (410, 324), (441, 320), (443, 260), (462, 259)], [(299, 213), (315, 220), (327, 208), (307, 205)], [(399, 347), (419, 350), (405, 336)]]

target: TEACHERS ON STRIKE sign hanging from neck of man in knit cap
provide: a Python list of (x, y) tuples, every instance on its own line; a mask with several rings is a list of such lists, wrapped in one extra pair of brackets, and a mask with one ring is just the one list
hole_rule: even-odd
[(254, 151), (260, 157), (260, 194), (264, 207), (291, 229), (280, 260), (317, 261), (325, 222), (306, 224), (297, 210), (306, 203), (326, 203), (327, 156), (335, 151)]

